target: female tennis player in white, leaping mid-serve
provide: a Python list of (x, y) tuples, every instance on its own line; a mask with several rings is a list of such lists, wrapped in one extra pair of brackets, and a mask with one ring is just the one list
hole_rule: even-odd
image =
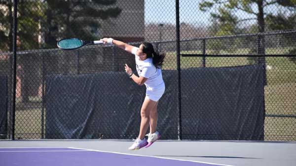
[[(158, 118), (157, 104), (165, 90), (165, 84), (161, 74), (161, 66), (165, 54), (156, 53), (153, 45), (149, 42), (143, 42), (138, 48), (125, 42), (113, 40), (112, 38), (104, 38), (101, 41), (105, 44), (112, 43), (135, 55), (136, 69), (139, 77), (133, 73), (127, 64), (124, 66), (125, 72), (135, 83), (146, 85), (146, 97), (141, 108), (139, 136), (128, 149), (138, 150), (142, 147), (149, 147), (160, 137), (159, 132), (156, 131)], [(150, 132), (146, 134), (149, 126)], [(148, 136), (148, 139), (145, 138), (145, 134)]]

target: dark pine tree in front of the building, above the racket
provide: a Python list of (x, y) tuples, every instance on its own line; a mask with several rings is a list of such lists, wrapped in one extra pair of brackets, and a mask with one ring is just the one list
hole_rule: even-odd
[(116, 0), (46, 0), (45, 19), (42, 20), (44, 47), (56, 47), (61, 38), (94, 40), (101, 27), (97, 19), (117, 17), (121, 9)]

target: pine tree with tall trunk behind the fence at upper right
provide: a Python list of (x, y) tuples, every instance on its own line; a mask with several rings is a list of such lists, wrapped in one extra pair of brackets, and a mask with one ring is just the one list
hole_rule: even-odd
[[(216, 35), (235, 34), (235, 27), (238, 23), (257, 20), (258, 32), (265, 31), (265, 17), (270, 18), (274, 15), (274, 10), (266, 10), (264, 8), (270, 6), (282, 6), (293, 9), (296, 6), (296, 0), (203, 0), (199, 4), (202, 11), (210, 11), (213, 19), (218, 20), (220, 32)], [(218, 8), (218, 10), (214, 10)], [(241, 12), (242, 15), (253, 15), (253, 18), (237, 18), (235, 14)], [(276, 27), (276, 26), (274, 26)], [(222, 32), (221, 32), (222, 31)], [(265, 39), (264, 36), (258, 38), (259, 47), (258, 54), (265, 54)], [(254, 50), (251, 50), (254, 52)], [(259, 58), (259, 63), (265, 64), (265, 59)]]

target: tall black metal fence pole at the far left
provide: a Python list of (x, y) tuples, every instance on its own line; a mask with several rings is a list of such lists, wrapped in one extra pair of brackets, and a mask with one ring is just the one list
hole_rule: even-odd
[(11, 139), (14, 140), (15, 131), (15, 95), (16, 95), (16, 36), (17, 36), (17, 0), (13, 1), (13, 87), (12, 87), (12, 122)]

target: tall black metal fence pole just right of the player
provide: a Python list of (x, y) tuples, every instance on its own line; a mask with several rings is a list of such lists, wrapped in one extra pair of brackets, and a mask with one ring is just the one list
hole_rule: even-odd
[(178, 70), (178, 139), (182, 140), (182, 112), (181, 112), (181, 68), (180, 68), (180, 17), (179, 0), (176, 0), (176, 51), (177, 51), (177, 70)]

